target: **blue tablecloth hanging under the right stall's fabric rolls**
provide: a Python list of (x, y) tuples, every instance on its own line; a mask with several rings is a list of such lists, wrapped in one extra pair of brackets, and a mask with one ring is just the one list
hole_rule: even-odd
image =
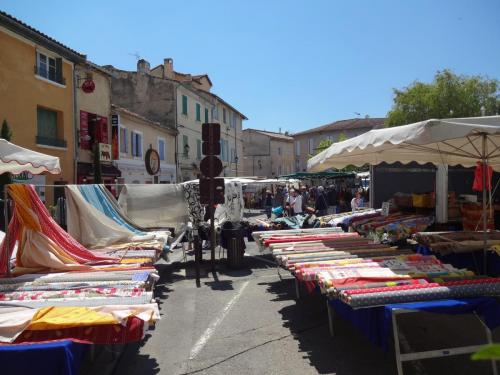
[(491, 297), (397, 303), (357, 310), (339, 300), (329, 300), (329, 303), (337, 314), (350, 321), (372, 343), (384, 349), (387, 349), (392, 335), (391, 312), (395, 309), (439, 314), (467, 314), (475, 311), (491, 329), (500, 325), (500, 303)]

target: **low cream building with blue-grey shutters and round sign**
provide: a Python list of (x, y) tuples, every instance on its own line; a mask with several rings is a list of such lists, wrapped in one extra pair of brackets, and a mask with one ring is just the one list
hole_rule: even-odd
[[(118, 157), (113, 164), (121, 172), (120, 184), (155, 184), (175, 183), (176, 131), (162, 127), (137, 113), (111, 106), (112, 121), (118, 130)], [(160, 171), (156, 175), (148, 174), (145, 167), (145, 155), (148, 149), (158, 151)]]

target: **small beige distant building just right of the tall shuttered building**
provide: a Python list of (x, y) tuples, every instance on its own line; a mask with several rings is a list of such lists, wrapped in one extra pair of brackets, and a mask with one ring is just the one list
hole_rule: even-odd
[(292, 137), (282, 133), (245, 129), (243, 143), (246, 176), (276, 178), (293, 172)]

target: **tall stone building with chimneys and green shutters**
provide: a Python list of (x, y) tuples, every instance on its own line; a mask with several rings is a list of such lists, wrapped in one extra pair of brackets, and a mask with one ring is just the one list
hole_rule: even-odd
[(223, 174), (238, 174), (243, 150), (242, 121), (247, 118), (210, 92), (208, 75), (176, 72), (172, 59), (164, 59), (163, 64), (152, 69), (147, 61), (139, 60), (136, 72), (105, 68), (113, 73), (112, 100), (116, 105), (177, 131), (174, 160), (178, 181), (195, 179), (200, 174), (204, 122), (221, 124)]

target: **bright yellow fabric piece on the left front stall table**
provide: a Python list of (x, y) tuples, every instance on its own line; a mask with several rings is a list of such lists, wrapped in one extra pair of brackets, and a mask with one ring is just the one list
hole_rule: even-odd
[(113, 315), (87, 307), (45, 307), (36, 312), (27, 329), (43, 331), (102, 324), (119, 324)]

